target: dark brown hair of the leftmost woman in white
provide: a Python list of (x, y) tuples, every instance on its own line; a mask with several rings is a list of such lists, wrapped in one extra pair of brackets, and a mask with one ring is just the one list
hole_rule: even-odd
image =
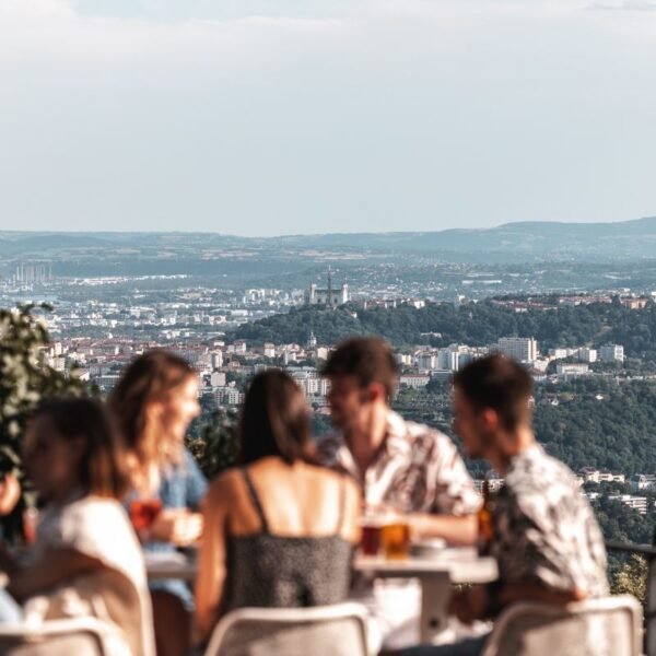
[(89, 494), (120, 499), (129, 487), (125, 448), (105, 408), (90, 398), (54, 398), (42, 402), (32, 420), (45, 419), (65, 440), (83, 437), (80, 483)]

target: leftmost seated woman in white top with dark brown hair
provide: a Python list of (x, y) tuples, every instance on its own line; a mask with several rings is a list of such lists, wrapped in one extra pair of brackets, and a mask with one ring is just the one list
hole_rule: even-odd
[(118, 501), (129, 480), (125, 450), (102, 406), (84, 398), (43, 403), (23, 453), (46, 505), (26, 561), (0, 552), (9, 591), (27, 619), (98, 617), (122, 631), (130, 653), (153, 656), (143, 557)]

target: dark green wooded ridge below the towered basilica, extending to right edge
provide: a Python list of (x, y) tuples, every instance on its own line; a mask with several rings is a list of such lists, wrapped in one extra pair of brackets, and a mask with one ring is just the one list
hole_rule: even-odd
[(319, 343), (350, 335), (380, 335), (396, 347), (454, 342), (485, 345), (500, 337), (535, 337), (542, 350), (552, 347), (621, 343), (629, 356), (656, 360), (656, 304), (629, 309), (619, 302), (515, 312), (491, 301), (456, 307), (431, 304), (417, 309), (342, 307), (294, 309), (239, 327), (235, 338), (256, 343), (304, 343), (313, 330)]

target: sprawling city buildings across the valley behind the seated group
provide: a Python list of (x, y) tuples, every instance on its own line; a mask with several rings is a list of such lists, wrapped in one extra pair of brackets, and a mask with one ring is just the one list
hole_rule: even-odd
[[(187, 278), (186, 274), (56, 278), (51, 262), (21, 261), (13, 276), (0, 283), (0, 300), (4, 305), (52, 303), (52, 309), (44, 313), (52, 339), (48, 363), (57, 371), (74, 372), (73, 375), (105, 394), (137, 354), (157, 347), (172, 350), (192, 364), (208, 412), (237, 410), (255, 374), (268, 367), (282, 367), (297, 382), (314, 409), (318, 433), (329, 430), (328, 380), (321, 377), (320, 370), (335, 343), (323, 339), (319, 330), (315, 332), (312, 319), (305, 328), (305, 339), (289, 343), (239, 338), (241, 328), (247, 330), (251, 325), (290, 311), (315, 313), (330, 321), (329, 313), (337, 311), (355, 318), (363, 311), (377, 309), (391, 315), (403, 307), (415, 311), (425, 309), (426, 305), (466, 308), (477, 302), (460, 294), (452, 301), (397, 295), (415, 291), (402, 283), (377, 290), (379, 295), (372, 295), (371, 288), (363, 291), (339, 280), (330, 266), (323, 277), (319, 274), (317, 282), (308, 281), (305, 289), (187, 286)], [(500, 282), (495, 281), (496, 286)], [(126, 289), (131, 290), (129, 298)], [(628, 312), (641, 313), (654, 304), (655, 297), (656, 292), (636, 294), (626, 288), (613, 288), (551, 293), (549, 297), (499, 295), (492, 303), (512, 314), (613, 303)], [(421, 406), (422, 393), (443, 388), (454, 372), (494, 351), (524, 363), (541, 390), (540, 403), (554, 408), (563, 398), (571, 397), (567, 385), (582, 378), (593, 382), (621, 378), (622, 384), (656, 379), (656, 366), (649, 363), (640, 366), (635, 358), (626, 366), (624, 344), (612, 341), (599, 343), (598, 348), (589, 341), (543, 348), (532, 336), (507, 335), (492, 343), (435, 347), (434, 338), (440, 338), (440, 333), (422, 336), (423, 342), (403, 343), (396, 352), (400, 370), (396, 402), (410, 414)], [(563, 391), (559, 393), (561, 388)], [(447, 396), (437, 397), (441, 401), (436, 407), (442, 407), (444, 412), (448, 407)], [(604, 395), (597, 394), (595, 398), (602, 401)], [(448, 430), (446, 422), (443, 427)], [(579, 484), (591, 501), (598, 501), (602, 494), (608, 501), (620, 502), (641, 515), (654, 511), (656, 501), (651, 492), (656, 487), (656, 475), (652, 470), (609, 471), (595, 462), (585, 462), (576, 470)], [(499, 478), (492, 481), (494, 487), (502, 482)], [(482, 484), (480, 477), (477, 484), (479, 488)]]

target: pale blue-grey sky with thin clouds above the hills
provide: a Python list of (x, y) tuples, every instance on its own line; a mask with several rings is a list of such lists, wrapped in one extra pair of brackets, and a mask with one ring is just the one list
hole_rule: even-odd
[(0, 0), (0, 230), (656, 215), (656, 0)]

